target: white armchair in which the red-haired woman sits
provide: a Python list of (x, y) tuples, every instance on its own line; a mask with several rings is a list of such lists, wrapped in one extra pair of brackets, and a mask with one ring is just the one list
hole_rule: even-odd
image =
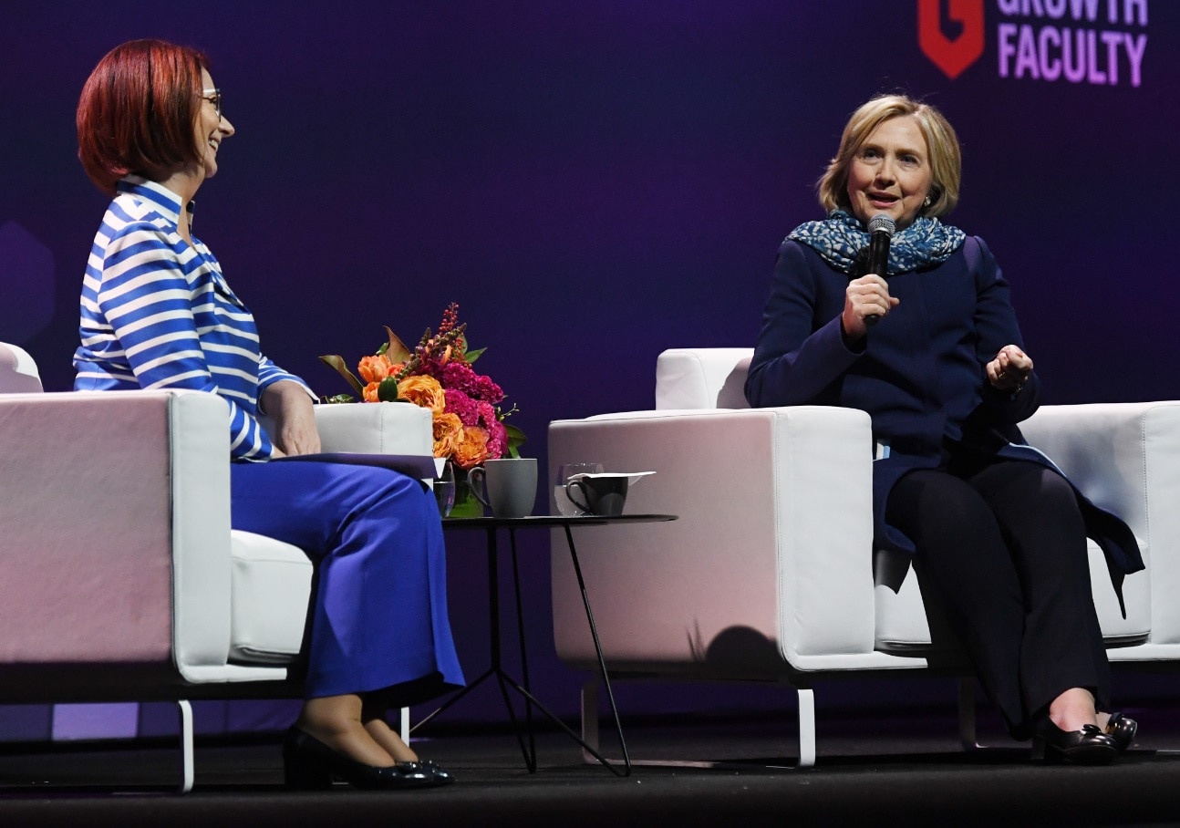
[[(0, 343), (0, 702), (297, 697), (301, 550), (230, 530), (225, 403), (202, 392), (41, 393)], [(409, 405), (316, 407), (326, 452), (430, 455)]]

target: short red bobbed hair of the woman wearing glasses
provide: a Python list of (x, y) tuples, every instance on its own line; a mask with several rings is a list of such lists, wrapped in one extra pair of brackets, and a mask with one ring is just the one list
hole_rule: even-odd
[(127, 173), (163, 180), (201, 162), (195, 125), (201, 52), (163, 40), (131, 40), (106, 53), (78, 100), (78, 159), (100, 190)]

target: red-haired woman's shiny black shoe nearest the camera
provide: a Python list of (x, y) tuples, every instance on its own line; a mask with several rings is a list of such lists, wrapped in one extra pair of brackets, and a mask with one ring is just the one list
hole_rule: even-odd
[(433, 762), (398, 762), (388, 768), (365, 764), (333, 750), (299, 728), (283, 741), (283, 782), (288, 788), (329, 788), (333, 777), (360, 790), (435, 788), (454, 782)]

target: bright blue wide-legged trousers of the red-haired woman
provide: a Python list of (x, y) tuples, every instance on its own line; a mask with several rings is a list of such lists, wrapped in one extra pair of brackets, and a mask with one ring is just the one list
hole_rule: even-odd
[[(235, 462), (232, 526), (316, 565), (308, 698), (388, 690), (411, 704), (463, 686), (433, 495), (387, 468)], [(399, 692), (399, 688), (405, 692)]]

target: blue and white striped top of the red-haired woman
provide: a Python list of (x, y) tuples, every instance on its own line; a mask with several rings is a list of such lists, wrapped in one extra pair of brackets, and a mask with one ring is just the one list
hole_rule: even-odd
[(212, 392), (229, 403), (230, 454), (269, 458), (256, 419), (262, 392), (280, 380), (307, 385), (262, 355), (254, 316), (209, 248), (181, 238), (179, 196), (138, 176), (118, 190), (86, 263), (74, 389)]

